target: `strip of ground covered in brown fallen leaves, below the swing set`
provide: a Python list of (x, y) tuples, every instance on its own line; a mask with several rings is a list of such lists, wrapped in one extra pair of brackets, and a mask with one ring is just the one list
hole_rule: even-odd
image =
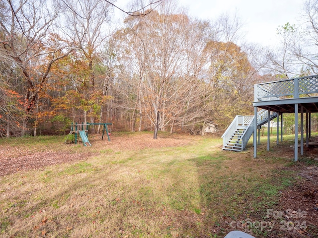
[(90, 135), (91, 147), (84, 147), (79, 141), (75, 144), (64, 144), (60, 141), (49, 142), (45, 145), (34, 138), (29, 138), (28, 144), (20, 143), (18, 146), (5, 143), (0, 146), (0, 176), (9, 175), (19, 171), (41, 168), (61, 163), (86, 160), (100, 153), (120, 152), (127, 150), (142, 150), (145, 148), (161, 148), (192, 144), (199, 140), (198, 136), (166, 135), (152, 139), (151, 133), (117, 134), (107, 136), (101, 140), (101, 135)]

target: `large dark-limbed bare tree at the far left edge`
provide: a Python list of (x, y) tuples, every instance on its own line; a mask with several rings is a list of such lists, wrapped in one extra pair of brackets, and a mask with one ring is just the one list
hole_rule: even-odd
[(23, 75), (22, 135), (53, 63), (72, 51), (68, 42), (60, 41), (54, 32), (52, 26), (58, 12), (51, 3), (45, 0), (1, 1), (2, 11), (8, 11), (0, 14), (3, 33), (0, 35), (0, 58), (11, 61)]

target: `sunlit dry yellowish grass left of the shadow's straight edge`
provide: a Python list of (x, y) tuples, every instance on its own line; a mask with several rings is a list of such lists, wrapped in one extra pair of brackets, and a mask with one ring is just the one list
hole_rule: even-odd
[[(161, 237), (167, 233), (167, 224), (171, 226), (168, 233), (177, 234), (178, 226), (174, 228), (173, 224), (181, 217), (197, 217), (186, 207), (198, 202), (184, 202), (179, 197), (177, 189), (197, 194), (193, 183), (187, 182), (196, 177), (186, 179), (192, 173), (191, 163), (176, 158), (175, 147), (171, 146), (193, 144), (200, 139), (173, 136), (153, 140), (150, 134), (112, 136), (110, 142), (92, 138), (92, 147), (73, 145), (69, 155), (66, 148), (70, 145), (64, 144), (58, 144), (60, 152), (53, 148), (35, 152), (39, 145), (25, 146), (22, 154), (21, 147), (6, 147), (15, 150), (6, 157), (8, 160), (32, 165), (30, 161), (36, 164), (41, 156), (46, 156), (43, 161), (50, 158), (57, 165), (42, 170), (30, 170), (30, 166), (29, 172), (1, 178), (1, 235)], [(82, 158), (83, 155), (89, 156)], [(68, 157), (79, 161), (70, 164)], [(80, 162), (81, 159), (85, 161)]]

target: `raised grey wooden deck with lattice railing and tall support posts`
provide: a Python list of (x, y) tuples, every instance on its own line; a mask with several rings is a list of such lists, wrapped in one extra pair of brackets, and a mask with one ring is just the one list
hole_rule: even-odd
[[(254, 115), (257, 109), (276, 112), (283, 119), (283, 114), (295, 114), (295, 161), (298, 160), (298, 114), (301, 115), (301, 155), (304, 151), (304, 115), (306, 114), (306, 145), (310, 136), (311, 113), (318, 113), (318, 75), (293, 78), (254, 85)], [(279, 118), (277, 117), (279, 122)], [(256, 122), (255, 122), (256, 123)], [(279, 124), (279, 123), (277, 123)], [(282, 125), (282, 123), (281, 123)], [(282, 140), (281, 126), (281, 140)], [(269, 127), (268, 127), (269, 129)], [(258, 132), (259, 133), (259, 132)], [(268, 133), (269, 134), (269, 133)], [(269, 135), (268, 135), (269, 136)], [(257, 126), (254, 126), (254, 158), (257, 151)], [(269, 150), (269, 137), (267, 140)], [(279, 143), (279, 128), (277, 127), (277, 143)]]

